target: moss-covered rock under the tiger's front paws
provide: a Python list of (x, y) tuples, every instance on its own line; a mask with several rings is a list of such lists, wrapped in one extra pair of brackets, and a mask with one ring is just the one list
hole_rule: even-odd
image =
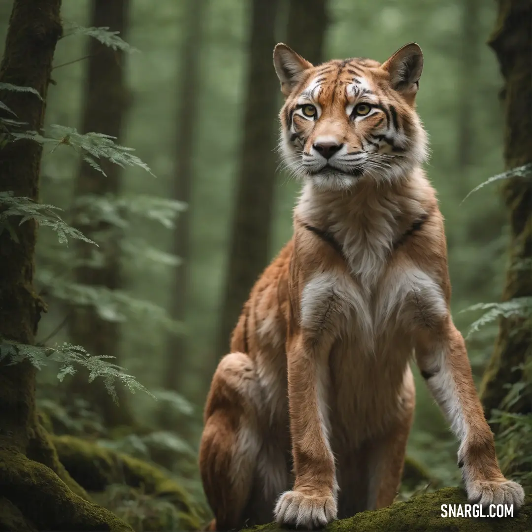
[[(361, 512), (349, 519), (330, 523), (325, 532), (530, 532), (532, 530), (532, 497), (514, 512), (513, 518), (442, 518), (442, 504), (465, 504), (463, 490), (445, 488), (412, 497), (376, 511)], [(277, 531), (275, 523), (247, 529)], [(286, 530), (284, 530), (286, 532)]]

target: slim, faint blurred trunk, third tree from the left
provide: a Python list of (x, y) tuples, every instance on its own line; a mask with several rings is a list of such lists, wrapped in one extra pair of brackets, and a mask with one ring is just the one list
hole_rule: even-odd
[[(173, 182), (173, 197), (187, 204), (190, 203), (194, 164), (204, 4), (204, 0), (188, 0), (185, 18), (186, 34), (181, 50), (176, 117), (176, 176)], [(189, 214), (185, 211), (179, 214), (173, 238), (173, 253), (183, 261), (176, 268), (171, 295), (171, 314), (176, 321), (185, 321), (186, 317), (189, 240)], [(184, 335), (170, 334), (163, 375), (163, 386), (166, 389), (174, 391), (181, 389), (187, 361), (186, 355), (187, 338)]]

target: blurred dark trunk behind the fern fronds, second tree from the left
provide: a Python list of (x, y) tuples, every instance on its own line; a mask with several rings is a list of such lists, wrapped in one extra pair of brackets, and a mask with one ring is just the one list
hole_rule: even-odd
[[(129, 14), (129, 0), (93, 0), (90, 26), (110, 27), (124, 37)], [(96, 39), (88, 45), (88, 76), (85, 84), (85, 107), (82, 132), (96, 131), (120, 138), (124, 115), (128, 108), (128, 90), (124, 73), (124, 53), (105, 46)], [(121, 167), (102, 161), (107, 174), (98, 172), (85, 161), (80, 163), (74, 197), (85, 195), (117, 197), (120, 193)], [(76, 210), (76, 218), (82, 208)], [(122, 287), (120, 267), (121, 229), (104, 221), (77, 222), (76, 226), (88, 238), (98, 243), (97, 253), (103, 257), (98, 267), (82, 264), (75, 270), (76, 282), (110, 290)], [(77, 259), (87, 262), (95, 248), (81, 240), (76, 241)], [(102, 319), (90, 306), (72, 306), (69, 310), (69, 335), (75, 345), (82, 345), (93, 355), (115, 356), (120, 347), (120, 323)], [(119, 363), (118, 360), (113, 362)], [(134, 418), (129, 408), (126, 392), (117, 389), (119, 405), (115, 404), (100, 379), (88, 381), (88, 372), (77, 372), (69, 381), (71, 394), (88, 400), (92, 408), (102, 415), (105, 425), (132, 426)]]

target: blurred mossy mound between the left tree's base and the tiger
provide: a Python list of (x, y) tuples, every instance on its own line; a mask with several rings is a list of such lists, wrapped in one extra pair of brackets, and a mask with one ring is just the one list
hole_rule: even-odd
[[(54, 436), (53, 442), (61, 462), (74, 480), (91, 492), (95, 500), (124, 518), (127, 516), (120, 508), (134, 502), (133, 505), (142, 506), (147, 513), (156, 508), (161, 517), (157, 521), (147, 516), (143, 520), (144, 529), (169, 529), (168, 519), (175, 520), (176, 516), (179, 528), (200, 528), (200, 519), (185, 490), (155, 465), (74, 436)], [(121, 504), (123, 502), (128, 504)], [(164, 515), (170, 517), (164, 518)], [(138, 516), (133, 517), (137, 519)], [(128, 522), (134, 522), (134, 519)]]

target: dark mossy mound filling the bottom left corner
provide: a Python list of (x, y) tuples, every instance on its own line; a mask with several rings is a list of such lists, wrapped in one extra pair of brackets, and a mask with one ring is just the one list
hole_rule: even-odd
[(6, 530), (132, 530), (109, 510), (73, 493), (50, 468), (11, 448), (0, 448), (0, 497), (0, 523), (22, 527)]

